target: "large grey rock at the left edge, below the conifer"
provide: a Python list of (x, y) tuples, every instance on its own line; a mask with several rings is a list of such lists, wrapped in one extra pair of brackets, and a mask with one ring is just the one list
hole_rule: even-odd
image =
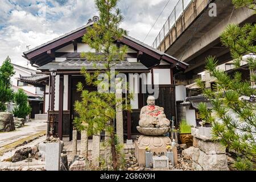
[(15, 130), (13, 114), (7, 112), (0, 112), (0, 131), (13, 131)]

